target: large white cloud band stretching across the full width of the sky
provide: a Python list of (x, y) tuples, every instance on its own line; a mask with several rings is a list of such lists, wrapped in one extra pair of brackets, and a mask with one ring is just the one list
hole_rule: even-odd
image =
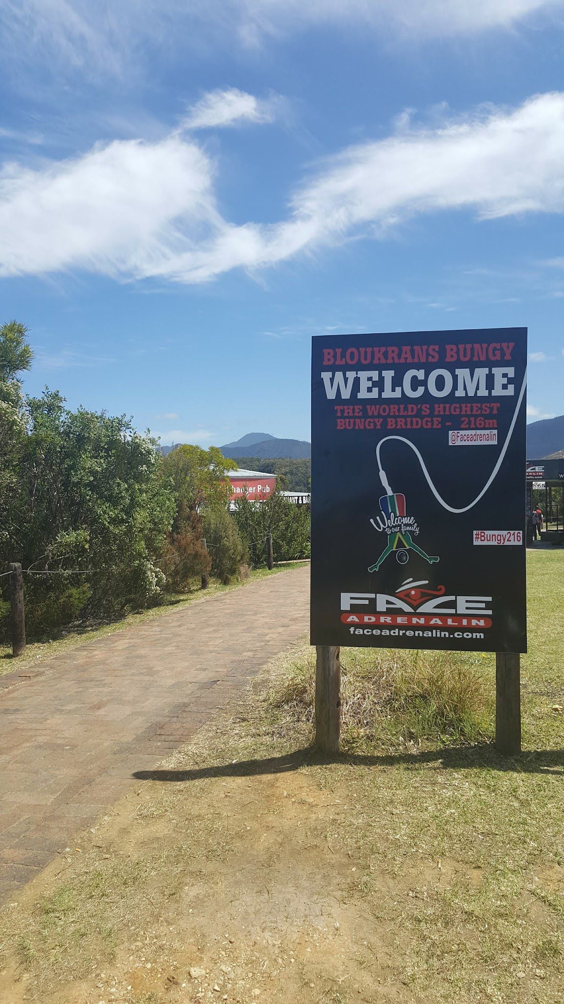
[(197, 283), (382, 237), (416, 214), (562, 213), (564, 93), (348, 148), (318, 165), (278, 223), (229, 223), (213, 183), (207, 155), (180, 135), (34, 171), (10, 164), (0, 174), (0, 273), (87, 268)]

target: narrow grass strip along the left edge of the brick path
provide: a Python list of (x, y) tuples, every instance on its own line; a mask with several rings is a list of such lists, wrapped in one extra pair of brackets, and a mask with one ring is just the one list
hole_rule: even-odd
[(71, 626), (63, 631), (60, 637), (49, 641), (31, 641), (28, 643), (25, 652), (17, 659), (14, 659), (12, 656), (11, 645), (0, 642), (0, 676), (25, 670), (42, 660), (52, 659), (53, 656), (73, 649), (77, 645), (83, 645), (85, 642), (92, 642), (97, 638), (113, 635), (115, 632), (124, 631), (126, 628), (132, 628), (138, 623), (145, 623), (148, 620), (153, 620), (155, 617), (166, 616), (167, 613), (183, 609), (192, 603), (203, 602), (220, 592), (228, 592), (231, 589), (241, 588), (250, 582), (256, 582), (257, 579), (268, 578), (271, 575), (277, 575), (291, 568), (298, 567), (303, 567), (303, 564), (295, 562), (281, 567), (274, 567), (272, 571), (269, 571), (268, 568), (255, 568), (249, 573), (249, 577), (243, 581), (237, 580), (224, 585), (222, 582), (211, 579), (207, 589), (197, 588), (188, 593), (165, 593), (162, 603), (148, 610), (128, 613), (116, 620)]

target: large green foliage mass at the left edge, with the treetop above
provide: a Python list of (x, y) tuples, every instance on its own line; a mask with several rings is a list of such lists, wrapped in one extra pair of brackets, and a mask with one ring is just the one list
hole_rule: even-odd
[(24, 401), (17, 374), (30, 360), (23, 325), (0, 328), (0, 397), (17, 420), (1, 445), (0, 563), (35, 573), (25, 576), (33, 633), (146, 605), (165, 582), (157, 559), (175, 502), (157, 442), (124, 417), (70, 412), (57, 392)]

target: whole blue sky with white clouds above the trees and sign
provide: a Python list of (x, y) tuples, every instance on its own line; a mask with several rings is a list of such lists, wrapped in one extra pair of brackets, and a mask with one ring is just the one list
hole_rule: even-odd
[(528, 325), (529, 420), (564, 412), (564, 0), (0, 0), (0, 29), (26, 390), (308, 439), (312, 334)]

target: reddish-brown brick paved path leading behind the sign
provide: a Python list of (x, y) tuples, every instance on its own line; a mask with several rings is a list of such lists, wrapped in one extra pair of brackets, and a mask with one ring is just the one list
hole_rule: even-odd
[(306, 631), (308, 585), (280, 572), (0, 677), (0, 902)]

